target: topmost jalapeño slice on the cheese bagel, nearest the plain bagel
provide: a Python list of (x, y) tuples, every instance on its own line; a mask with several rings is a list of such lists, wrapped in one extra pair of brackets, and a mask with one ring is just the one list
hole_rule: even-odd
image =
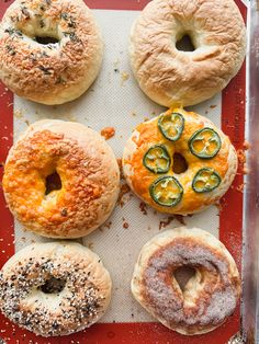
[(177, 141), (184, 128), (184, 118), (179, 113), (162, 114), (158, 119), (158, 128), (170, 141)]

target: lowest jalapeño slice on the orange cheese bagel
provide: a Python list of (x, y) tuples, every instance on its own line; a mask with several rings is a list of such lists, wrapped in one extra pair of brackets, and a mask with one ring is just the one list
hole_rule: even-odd
[(165, 207), (174, 207), (181, 199), (183, 188), (171, 175), (160, 176), (149, 187), (151, 198)]

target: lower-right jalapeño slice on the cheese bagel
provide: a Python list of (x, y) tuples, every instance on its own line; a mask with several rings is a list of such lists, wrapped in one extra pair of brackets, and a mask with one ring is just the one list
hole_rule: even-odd
[(196, 193), (207, 193), (216, 188), (222, 182), (221, 176), (213, 169), (205, 168), (198, 171), (195, 174), (192, 188)]

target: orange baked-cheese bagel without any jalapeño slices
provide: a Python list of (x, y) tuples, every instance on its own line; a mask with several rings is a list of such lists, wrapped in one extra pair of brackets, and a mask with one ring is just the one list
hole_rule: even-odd
[(92, 129), (40, 121), (11, 148), (3, 175), (9, 208), (25, 228), (52, 238), (90, 233), (111, 215), (120, 171), (112, 149)]

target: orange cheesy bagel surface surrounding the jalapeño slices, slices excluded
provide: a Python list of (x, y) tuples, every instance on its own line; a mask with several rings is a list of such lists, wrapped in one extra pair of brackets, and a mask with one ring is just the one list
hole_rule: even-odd
[[(158, 211), (168, 214), (188, 215), (203, 210), (212, 204), (215, 204), (229, 188), (237, 171), (237, 154), (229, 138), (207, 118), (193, 112), (187, 112), (182, 108), (170, 108), (165, 114), (180, 113), (183, 115), (185, 124), (181, 137), (177, 141), (167, 140), (158, 129), (158, 118), (155, 117), (137, 126), (128, 139), (123, 153), (124, 176), (131, 188), (145, 203), (156, 208)], [(189, 149), (188, 141), (190, 137), (199, 129), (213, 128), (222, 140), (222, 147), (218, 153), (212, 159), (200, 159), (193, 156)], [(188, 170), (177, 174), (172, 165), (165, 174), (155, 174), (148, 171), (143, 158), (147, 150), (154, 145), (162, 145), (167, 148), (171, 160), (174, 152), (181, 153), (187, 163)], [(218, 187), (207, 193), (195, 193), (192, 188), (192, 181), (200, 169), (214, 169), (221, 176)], [(158, 205), (150, 196), (149, 187), (155, 180), (162, 175), (172, 175), (183, 187), (183, 196), (179, 204), (173, 207)]]

